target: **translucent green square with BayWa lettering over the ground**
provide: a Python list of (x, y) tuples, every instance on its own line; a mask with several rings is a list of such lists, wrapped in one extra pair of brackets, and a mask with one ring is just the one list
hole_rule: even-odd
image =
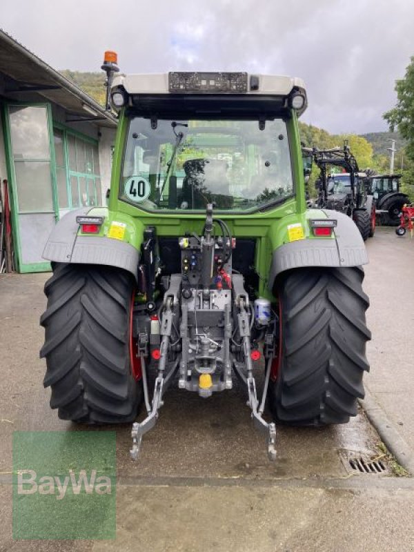
[(115, 431), (14, 431), (13, 538), (113, 539)]

